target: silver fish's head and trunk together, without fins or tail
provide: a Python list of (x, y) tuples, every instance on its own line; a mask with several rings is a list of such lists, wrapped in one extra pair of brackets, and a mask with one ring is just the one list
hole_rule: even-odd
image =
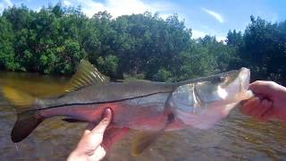
[[(248, 69), (242, 68), (179, 83), (107, 83), (62, 97), (40, 99), (38, 105), (44, 117), (61, 115), (96, 123), (105, 108), (110, 107), (114, 111), (114, 126), (149, 131), (162, 129), (167, 114), (173, 113), (182, 124), (206, 129), (227, 115), (240, 100), (249, 97), (248, 79)], [(214, 112), (209, 114), (211, 110)]]

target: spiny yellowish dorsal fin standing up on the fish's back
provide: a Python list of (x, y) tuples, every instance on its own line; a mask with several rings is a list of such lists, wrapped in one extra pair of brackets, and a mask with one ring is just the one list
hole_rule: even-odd
[(86, 60), (81, 60), (78, 66), (77, 72), (71, 77), (69, 83), (65, 86), (65, 92), (71, 92), (90, 85), (98, 85), (108, 82), (108, 77), (98, 72), (94, 67)]

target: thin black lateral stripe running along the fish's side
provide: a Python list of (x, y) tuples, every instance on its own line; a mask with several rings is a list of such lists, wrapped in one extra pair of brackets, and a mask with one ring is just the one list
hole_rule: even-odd
[(49, 109), (49, 108), (56, 108), (56, 107), (61, 107), (61, 106), (80, 106), (80, 105), (108, 104), (108, 103), (121, 102), (121, 101), (125, 101), (125, 100), (136, 99), (136, 98), (140, 98), (140, 97), (149, 97), (149, 96), (153, 96), (153, 95), (156, 95), (156, 94), (170, 93), (170, 92), (172, 92), (172, 90), (164, 91), (164, 92), (151, 93), (151, 94), (147, 94), (147, 95), (143, 95), (143, 96), (139, 96), (139, 97), (127, 97), (127, 98), (111, 100), (111, 101), (98, 101), (98, 102), (87, 102), (87, 103), (63, 104), (63, 105), (59, 105), (59, 106), (48, 106), (46, 108), (41, 108), (40, 110)]

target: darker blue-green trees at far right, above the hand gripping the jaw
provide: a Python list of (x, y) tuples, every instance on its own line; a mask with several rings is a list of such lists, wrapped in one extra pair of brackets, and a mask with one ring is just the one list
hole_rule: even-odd
[(240, 40), (236, 47), (235, 64), (250, 68), (253, 80), (275, 80), (285, 84), (285, 21), (271, 23), (254, 16), (250, 20), (242, 42)]

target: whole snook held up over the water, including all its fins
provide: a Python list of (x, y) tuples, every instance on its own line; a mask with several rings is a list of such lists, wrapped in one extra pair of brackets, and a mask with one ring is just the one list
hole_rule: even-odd
[(112, 127), (149, 131), (135, 139), (133, 154), (139, 155), (163, 131), (212, 127), (241, 100), (251, 97), (249, 77), (249, 70), (241, 68), (176, 83), (109, 82), (82, 60), (61, 96), (39, 98), (7, 86), (2, 93), (18, 115), (11, 134), (13, 142), (28, 137), (46, 118), (66, 116), (67, 122), (97, 123), (110, 107)]

